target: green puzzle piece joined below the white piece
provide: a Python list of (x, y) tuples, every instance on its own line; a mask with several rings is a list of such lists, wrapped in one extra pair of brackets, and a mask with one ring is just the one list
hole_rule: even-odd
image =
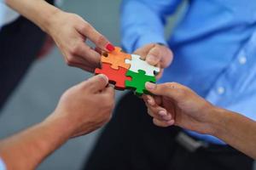
[(126, 76), (131, 77), (131, 81), (125, 81), (125, 88), (134, 90), (138, 96), (149, 94), (148, 90), (145, 88), (145, 83), (156, 82), (156, 79), (155, 77), (149, 77), (145, 74), (146, 72), (142, 70), (139, 70), (138, 73), (128, 70)]

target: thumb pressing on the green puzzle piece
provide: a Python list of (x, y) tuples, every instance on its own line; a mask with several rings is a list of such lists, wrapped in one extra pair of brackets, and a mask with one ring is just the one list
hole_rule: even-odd
[(167, 82), (163, 84), (147, 82), (146, 88), (151, 94), (167, 96), (174, 100), (182, 99), (182, 94), (184, 94), (183, 86), (177, 82)]

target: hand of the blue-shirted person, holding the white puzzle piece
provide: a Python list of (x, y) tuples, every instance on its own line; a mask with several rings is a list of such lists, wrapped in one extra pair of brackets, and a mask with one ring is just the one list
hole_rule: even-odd
[(162, 76), (163, 69), (171, 65), (173, 58), (170, 48), (155, 43), (150, 43), (142, 48), (138, 48), (134, 54), (140, 55), (149, 65), (160, 67), (160, 73), (157, 75), (157, 79)]

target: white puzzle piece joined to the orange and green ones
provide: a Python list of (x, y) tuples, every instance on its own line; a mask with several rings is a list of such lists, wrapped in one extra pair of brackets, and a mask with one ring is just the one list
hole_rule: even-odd
[(160, 72), (160, 68), (149, 65), (146, 61), (140, 59), (140, 56), (137, 54), (131, 54), (131, 59), (125, 59), (125, 63), (131, 64), (130, 71), (138, 73), (142, 70), (145, 71), (146, 75), (149, 77), (154, 77), (154, 75)]

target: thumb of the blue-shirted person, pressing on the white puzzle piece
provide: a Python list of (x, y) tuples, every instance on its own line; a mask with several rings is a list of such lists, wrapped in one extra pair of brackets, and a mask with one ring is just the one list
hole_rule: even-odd
[(160, 48), (158, 46), (151, 48), (146, 57), (146, 61), (148, 62), (148, 64), (149, 65), (157, 65), (157, 64), (159, 64), (160, 59), (161, 59)]

